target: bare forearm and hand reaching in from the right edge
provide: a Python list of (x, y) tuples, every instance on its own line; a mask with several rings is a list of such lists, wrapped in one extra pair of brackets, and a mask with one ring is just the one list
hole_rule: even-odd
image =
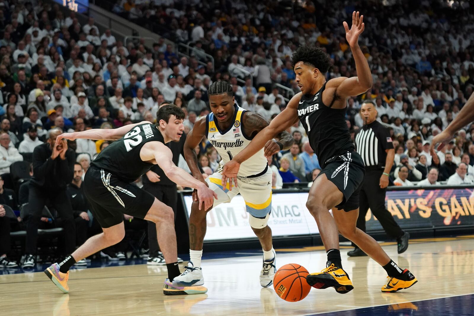
[(459, 111), (456, 118), (446, 127), (444, 131), (433, 137), (429, 153), (433, 157), (435, 163), (439, 162), (438, 155), (435, 153), (436, 145), (439, 144), (438, 150), (441, 150), (447, 143), (449, 143), (454, 134), (467, 124), (474, 121), (474, 93), (471, 94), (464, 107)]

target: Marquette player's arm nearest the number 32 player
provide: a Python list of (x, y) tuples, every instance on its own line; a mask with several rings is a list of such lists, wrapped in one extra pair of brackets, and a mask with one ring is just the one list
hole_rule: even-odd
[(183, 152), (184, 159), (188, 163), (189, 170), (193, 177), (203, 183), (204, 177), (202, 176), (201, 170), (198, 165), (198, 155), (194, 151), (202, 138), (206, 135), (206, 117), (201, 117), (193, 126), (189, 134), (186, 136), (186, 142), (184, 142)]

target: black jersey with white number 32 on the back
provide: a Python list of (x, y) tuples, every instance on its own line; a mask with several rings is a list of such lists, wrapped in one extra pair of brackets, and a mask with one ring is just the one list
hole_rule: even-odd
[(140, 150), (148, 142), (164, 143), (155, 124), (141, 124), (132, 128), (118, 141), (102, 150), (91, 166), (110, 172), (126, 182), (133, 182), (153, 166), (140, 158)]

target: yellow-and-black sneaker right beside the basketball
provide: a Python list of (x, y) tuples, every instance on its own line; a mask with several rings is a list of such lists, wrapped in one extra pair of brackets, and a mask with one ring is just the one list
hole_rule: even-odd
[(331, 263), (321, 272), (308, 274), (306, 282), (315, 289), (327, 289), (333, 287), (337, 293), (346, 294), (354, 289), (349, 275), (342, 268), (338, 268)]

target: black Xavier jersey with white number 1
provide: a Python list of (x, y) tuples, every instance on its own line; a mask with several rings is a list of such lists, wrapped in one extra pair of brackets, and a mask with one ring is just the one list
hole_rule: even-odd
[(298, 104), (298, 118), (323, 168), (330, 158), (354, 150), (346, 124), (346, 108), (329, 108), (322, 101), (326, 83), (316, 94), (301, 96)]

